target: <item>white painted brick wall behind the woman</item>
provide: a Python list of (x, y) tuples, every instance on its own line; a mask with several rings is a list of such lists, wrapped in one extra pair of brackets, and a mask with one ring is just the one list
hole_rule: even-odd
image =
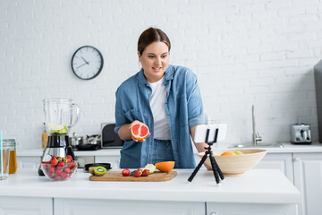
[[(321, 0), (2, 0), (0, 129), (21, 149), (40, 148), (42, 99), (64, 97), (81, 107), (72, 132), (99, 133), (114, 121), (114, 91), (140, 69), (141, 31), (154, 26), (172, 41), (171, 63), (197, 73), (207, 115), (229, 126), (226, 142), (250, 142), (252, 104), (264, 142), (289, 142), (299, 122), (317, 141), (321, 14)], [(105, 59), (91, 81), (70, 66), (84, 45)]]

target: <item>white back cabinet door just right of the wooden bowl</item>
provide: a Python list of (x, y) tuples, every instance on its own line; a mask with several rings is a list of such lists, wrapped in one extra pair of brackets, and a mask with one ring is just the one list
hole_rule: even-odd
[(278, 168), (293, 183), (292, 153), (267, 154), (255, 168)]

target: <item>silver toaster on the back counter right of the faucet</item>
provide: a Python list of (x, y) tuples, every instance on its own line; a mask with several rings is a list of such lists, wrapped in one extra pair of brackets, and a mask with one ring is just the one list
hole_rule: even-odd
[(310, 144), (312, 142), (310, 128), (307, 124), (291, 126), (291, 142), (293, 144)]

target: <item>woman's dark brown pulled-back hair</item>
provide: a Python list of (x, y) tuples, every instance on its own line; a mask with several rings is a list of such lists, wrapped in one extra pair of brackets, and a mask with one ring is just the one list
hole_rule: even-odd
[(170, 39), (166, 36), (165, 32), (151, 27), (144, 30), (140, 35), (138, 41), (138, 51), (140, 52), (140, 55), (142, 55), (144, 49), (153, 42), (164, 42), (166, 46), (169, 47), (170, 51)]

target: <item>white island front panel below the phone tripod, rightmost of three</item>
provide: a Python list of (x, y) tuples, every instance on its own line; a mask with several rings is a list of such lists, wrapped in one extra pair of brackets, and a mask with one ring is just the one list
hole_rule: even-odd
[(294, 215), (294, 204), (254, 204), (207, 202), (207, 215)]

